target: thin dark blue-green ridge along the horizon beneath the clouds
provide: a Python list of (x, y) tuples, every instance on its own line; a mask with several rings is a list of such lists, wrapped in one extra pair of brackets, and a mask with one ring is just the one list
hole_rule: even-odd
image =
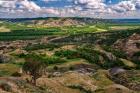
[(77, 20), (88, 24), (93, 23), (140, 23), (140, 19), (101, 19), (101, 18), (90, 18), (90, 17), (38, 17), (38, 18), (0, 18), (0, 21), (7, 22), (26, 22), (33, 20), (58, 20), (58, 19), (71, 19)]

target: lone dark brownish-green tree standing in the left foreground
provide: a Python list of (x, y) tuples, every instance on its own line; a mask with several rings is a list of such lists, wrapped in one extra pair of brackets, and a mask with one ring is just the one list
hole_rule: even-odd
[(23, 71), (31, 76), (31, 83), (34, 85), (36, 85), (36, 80), (45, 73), (46, 68), (45, 62), (35, 58), (26, 58), (26, 62), (23, 65)]

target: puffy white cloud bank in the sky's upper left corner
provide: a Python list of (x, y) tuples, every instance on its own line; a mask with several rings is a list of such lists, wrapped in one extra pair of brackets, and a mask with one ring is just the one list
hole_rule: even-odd
[(7, 13), (21, 14), (23, 13), (32, 13), (32, 14), (58, 14), (58, 11), (54, 8), (45, 8), (37, 5), (34, 1), (29, 0), (11, 0), (11, 1), (2, 1), (0, 0), (0, 12), (5, 11)]

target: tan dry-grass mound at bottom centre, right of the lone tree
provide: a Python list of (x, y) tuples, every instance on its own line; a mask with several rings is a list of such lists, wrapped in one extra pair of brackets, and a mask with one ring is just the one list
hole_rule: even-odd
[[(72, 88), (73, 86), (80, 86), (86, 91), (95, 91), (97, 86), (94, 81), (84, 74), (78, 72), (66, 72), (61, 77), (40, 78), (37, 80), (38, 85), (47, 86), (53, 93), (81, 93), (79, 88)], [(65, 91), (65, 92), (64, 92)]]

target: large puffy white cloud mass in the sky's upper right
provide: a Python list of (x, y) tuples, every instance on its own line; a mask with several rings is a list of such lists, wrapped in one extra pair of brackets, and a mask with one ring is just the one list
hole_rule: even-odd
[(126, 16), (140, 9), (140, 0), (122, 0), (117, 4), (107, 5), (105, 0), (74, 0), (74, 4), (81, 9), (87, 9), (92, 14), (97, 15), (120, 15)]

